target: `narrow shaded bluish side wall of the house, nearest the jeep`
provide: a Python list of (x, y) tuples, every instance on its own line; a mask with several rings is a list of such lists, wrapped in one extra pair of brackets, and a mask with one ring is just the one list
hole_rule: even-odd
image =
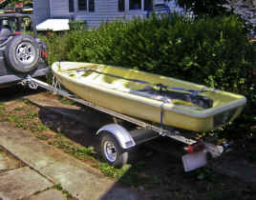
[(33, 0), (33, 20), (35, 24), (48, 19), (50, 17), (49, 0)]

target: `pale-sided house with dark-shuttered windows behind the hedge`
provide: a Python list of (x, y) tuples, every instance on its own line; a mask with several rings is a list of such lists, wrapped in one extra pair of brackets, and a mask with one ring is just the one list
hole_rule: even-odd
[[(85, 20), (89, 27), (94, 28), (104, 21), (129, 20), (135, 16), (146, 17), (149, 11), (153, 10), (155, 1), (175, 2), (175, 0), (33, 0), (34, 21), (39, 24), (47, 19)], [(54, 27), (53, 21), (48, 21), (52, 27)]]

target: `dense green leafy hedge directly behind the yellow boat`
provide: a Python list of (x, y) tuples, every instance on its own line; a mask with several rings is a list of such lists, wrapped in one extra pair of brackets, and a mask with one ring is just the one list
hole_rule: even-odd
[(193, 21), (175, 14), (153, 15), (102, 24), (97, 30), (70, 31), (61, 37), (62, 50), (55, 47), (53, 54), (62, 56), (58, 59), (146, 70), (242, 93), (251, 110), (256, 99), (256, 50), (246, 34), (237, 16)]

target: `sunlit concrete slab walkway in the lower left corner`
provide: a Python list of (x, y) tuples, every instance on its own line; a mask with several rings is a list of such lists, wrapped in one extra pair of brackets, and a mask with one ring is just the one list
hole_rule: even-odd
[[(26, 130), (11, 127), (10, 123), (0, 122), (0, 146), (28, 166), (0, 173), (0, 199), (63, 199), (59, 191), (47, 190), (58, 184), (77, 199), (143, 199)], [(38, 192), (40, 195), (32, 195)], [(53, 195), (56, 197), (50, 198)]]

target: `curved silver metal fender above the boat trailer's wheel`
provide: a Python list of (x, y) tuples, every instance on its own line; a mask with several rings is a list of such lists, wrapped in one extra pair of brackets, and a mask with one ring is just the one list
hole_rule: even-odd
[(97, 130), (96, 135), (103, 134), (104, 132), (113, 134), (117, 138), (117, 141), (123, 150), (127, 150), (136, 146), (136, 143), (133, 137), (131, 136), (130, 132), (121, 127), (120, 125), (106, 125)]

